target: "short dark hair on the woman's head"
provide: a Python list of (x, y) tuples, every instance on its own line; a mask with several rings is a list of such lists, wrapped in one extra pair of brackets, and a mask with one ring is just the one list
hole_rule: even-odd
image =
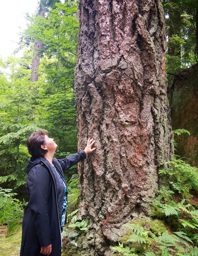
[(47, 153), (47, 149), (41, 149), (41, 145), (45, 144), (45, 135), (48, 135), (48, 132), (39, 129), (29, 136), (27, 146), (32, 157), (43, 157)]

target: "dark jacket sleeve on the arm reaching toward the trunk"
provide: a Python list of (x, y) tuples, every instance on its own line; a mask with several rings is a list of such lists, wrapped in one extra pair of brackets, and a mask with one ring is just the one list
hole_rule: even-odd
[(86, 158), (86, 154), (85, 154), (85, 151), (83, 150), (83, 151), (75, 153), (74, 155), (70, 155), (66, 158), (57, 159), (57, 160), (58, 160), (59, 164), (61, 165), (62, 170), (65, 171), (85, 158)]

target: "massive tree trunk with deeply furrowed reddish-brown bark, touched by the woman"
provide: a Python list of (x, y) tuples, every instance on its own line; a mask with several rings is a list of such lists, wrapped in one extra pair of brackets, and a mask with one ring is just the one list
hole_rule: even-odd
[[(150, 216), (158, 170), (173, 153), (166, 95), (161, 1), (81, 0), (75, 92), (80, 216), (88, 220), (82, 255), (111, 255), (123, 223)], [(81, 254), (80, 254), (81, 255)]]

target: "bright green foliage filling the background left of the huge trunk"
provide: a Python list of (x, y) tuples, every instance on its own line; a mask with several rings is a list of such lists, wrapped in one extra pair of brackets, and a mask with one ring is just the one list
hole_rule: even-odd
[[(77, 151), (73, 89), (79, 24), (76, 2), (54, 2), (46, 6), (45, 18), (29, 17), (30, 24), (20, 43), (24, 56), (8, 57), (5, 62), (0, 59), (0, 183), (18, 188), (19, 193), (30, 157), (26, 140), (33, 131), (41, 128), (49, 132), (58, 144), (57, 158)], [(33, 84), (30, 72), (34, 39), (41, 39), (43, 48), (39, 80)], [(76, 166), (68, 171), (67, 179), (76, 171)]]

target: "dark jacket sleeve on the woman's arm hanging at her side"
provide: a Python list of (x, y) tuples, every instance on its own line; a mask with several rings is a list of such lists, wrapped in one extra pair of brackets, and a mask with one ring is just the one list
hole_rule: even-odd
[(29, 207), (41, 247), (51, 244), (48, 214), (50, 182), (51, 177), (49, 172), (40, 165), (37, 165), (30, 170), (26, 181), (29, 195)]

